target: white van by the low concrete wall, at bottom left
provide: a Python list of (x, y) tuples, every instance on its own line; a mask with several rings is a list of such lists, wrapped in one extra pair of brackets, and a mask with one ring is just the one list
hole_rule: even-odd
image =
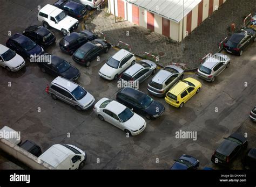
[(86, 154), (72, 145), (55, 144), (38, 157), (56, 169), (82, 169)]

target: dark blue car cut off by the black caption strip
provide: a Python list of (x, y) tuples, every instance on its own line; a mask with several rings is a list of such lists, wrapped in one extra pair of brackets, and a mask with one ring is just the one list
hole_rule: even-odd
[(194, 158), (193, 156), (189, 155), (182, 155), (179, 157), (173, 166), (171, 167), (171, 170), (195, 170), (199, 167), (199, 160)]

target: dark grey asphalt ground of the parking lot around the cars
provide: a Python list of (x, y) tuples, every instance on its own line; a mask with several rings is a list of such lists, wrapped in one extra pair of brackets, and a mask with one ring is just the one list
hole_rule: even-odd
[[(26, 16), (31, 16), (31, 21), (37, 23), (36, 17), (28, 12), (24, 9)], [(21, 32), (25, 26), (16, 23), (10, 25), (9, 30), (17, 27)], [(58, 42), (62, 35), (53, 32), (57, 37), (56, 44), (46, 52), (63, 57), (76, 66), (81, 72), (77, 83), (92, 93), (96, 102), (102, 97), (114, 99), (119, 90), (117, 81), (103, 80), (98, 76), (98, 70), (116, 49), (101, 55), (100, 61), (93, 61), (90, 67), (82, 67), (60, 51)], [(0, 39), (4, 44), (8, 37), (1, 35)], [(54, 77), (42, 73), (36, 64), (26, 62), (26, 67), (16, 73), (0, 68), (0, 128), (7, 125), (21, 131), (22, 140), (36, 142), (43, 152), (56, 143), (75, 145), (88, 155), (84, 169), (169, 169), (173, 159), (181, 154), (196, 157), (200, 169), (205, 166), (220, 169), (210, 159), (224, 137), (235, 131), (248, 133), (248, 148), (256, 147), (255, 124), (248, 119), (248, 113), (256, 103), (255, 47), (256, 42), (242, 56), (230, 55), (231, 66), (214, 83), (199, 80), (194, 74), (185, 75), (196, 78), (203, 87), (182, 109), (168, 105), (163, 98), (153, 97), (165, 105), (163, 116), (146, 120), (145, 131), (130, 138), (118, 128), (100, 121), (92, 109), (79, 112), (51, 99), (44, 90)], [(139, 85), (139, 90), (147, 93), (150, 78)], [(10, 83), (11, 87), (8, 87)], [(197, 140), (177, 139), (175, 133), (179, 130), (197, 132)], [(234, 169), (241, 169), (239, 159), (233, 164)]]

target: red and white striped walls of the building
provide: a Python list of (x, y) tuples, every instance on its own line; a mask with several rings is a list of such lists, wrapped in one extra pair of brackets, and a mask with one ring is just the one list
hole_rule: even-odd
[[(211, 16), (219, 6), (226, 0), (202, 0), (193, 10), (191, 10), (183, 19), (184, 34), (191, 33), (208, 16)], [(163, 34), (176, 41), (182, 40), (182, 20), (179, 23), (166, 19), (157, 14), (149, 12), (136, 5), (123, 0), (109, 0), (110, 13), (114, 14), (114, 3), (116, 16), (122, 17), (134, 24), (148, 28), (159, 34)]]

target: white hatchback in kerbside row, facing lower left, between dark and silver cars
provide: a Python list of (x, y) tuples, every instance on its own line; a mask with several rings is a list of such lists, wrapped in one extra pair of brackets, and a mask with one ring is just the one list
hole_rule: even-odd
[(107, 79), (114, 80), (127, 68), (135, 63), (134, 54), (121, 49), (103, 65), (99, 70), (99, 76)]

